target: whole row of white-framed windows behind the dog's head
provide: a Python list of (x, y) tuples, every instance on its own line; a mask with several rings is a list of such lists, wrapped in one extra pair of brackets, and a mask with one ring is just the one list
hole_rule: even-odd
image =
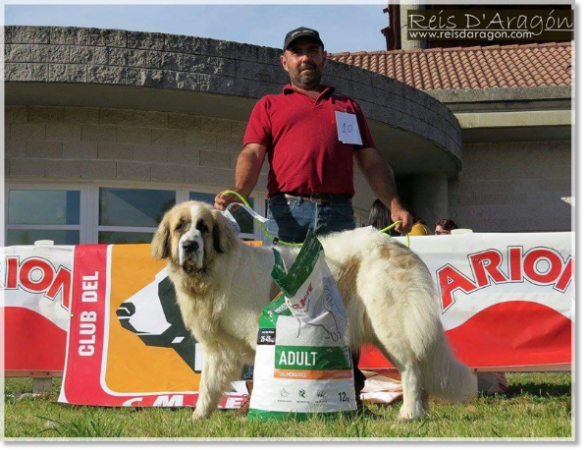
[[(213, 204), (217, 193), (216, 187), (194, 190), (186, 186), (141, 185), (8, 183), (5, 244), (32, 245), (42, 239), (56, 245), (150, 243), (163, 215), (173, 205), (190, 199)], [(251, 196), (248, 202), (265, 215), (264, 196)], [(244, 209), (232, 213), (240, 225), (242, 239), (261, 238), (256, 222)]]

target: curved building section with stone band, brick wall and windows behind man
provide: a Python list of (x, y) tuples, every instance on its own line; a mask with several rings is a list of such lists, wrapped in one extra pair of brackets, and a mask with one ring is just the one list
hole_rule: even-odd
[[(6, 27), (6, 243), (148, 242), (175, 202), (212, 201), (233, 185), (255, 102), (287, 82), (279, 55), (189, 36)], [(325, 77), (360, 102), (398, 174), (458, 173), (460, 126), (441, 102), (334, 61)], [(261, 214), (266, 174), (251, 199)], [(360, 174), (356, 188), (360, 223), (372, 194)], [(240, 220), (244, 238), (260, 238)]]

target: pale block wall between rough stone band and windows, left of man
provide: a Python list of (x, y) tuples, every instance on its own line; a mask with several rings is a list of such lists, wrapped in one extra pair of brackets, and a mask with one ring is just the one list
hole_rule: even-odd
[[(7, 180), (232, 187), (245, 123), (106, 108), (7, 106)], [(262, 184), (262, 185), (260, 185)], [(259, 187), (264, 187), (264, 180)]]

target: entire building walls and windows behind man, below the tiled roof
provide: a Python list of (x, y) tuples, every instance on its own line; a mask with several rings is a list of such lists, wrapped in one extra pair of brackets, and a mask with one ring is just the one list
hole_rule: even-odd
[[(189, 36), (6, 27), (5, 243), (147, 243), (174, 203), (212, 201), (233, 185), (255, 102), (287, 82), (279, 55)], [(403, 200), (428, 223), (571, 228), (569, 86), (513, 98), (429, 89), (344, 61), (352, 55), (331, 56), (325, 82), (360, 103)], [(261, 214), (266, 174), (250, 199)], [(358, 170), (355, 185), (364, 224), (374, 196)], [(245, 213), (238, 220), (243, 238), (260, 238)]]

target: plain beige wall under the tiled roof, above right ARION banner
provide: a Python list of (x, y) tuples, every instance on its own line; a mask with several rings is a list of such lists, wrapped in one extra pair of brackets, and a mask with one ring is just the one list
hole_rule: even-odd
[(450, 216), (475, 232), (571, 230), (569, 141), (464, 144)]

